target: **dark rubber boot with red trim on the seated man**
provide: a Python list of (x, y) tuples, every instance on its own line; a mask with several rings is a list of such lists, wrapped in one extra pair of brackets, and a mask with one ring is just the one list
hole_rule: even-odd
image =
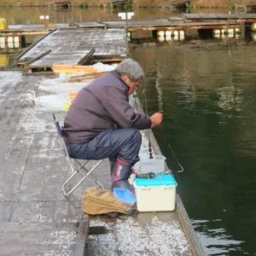
[(112, 189), (114, 188), (123, 188), (128, 189), (134, 194), (133, 186), (128, 181), (128, 178), (131, 175), (131, 163), (117, 158), (111, 169), (112, 177)]

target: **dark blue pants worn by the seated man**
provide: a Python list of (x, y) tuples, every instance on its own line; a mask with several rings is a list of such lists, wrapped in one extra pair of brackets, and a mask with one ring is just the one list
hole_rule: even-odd
[(142, 144), (140, 131), (134, 128), (108, 129), (88, 143), (71, 143), (67, 146), (71, 157), (83, 160), (110, 160), (119, 157), (132, 165), (138, 160)]

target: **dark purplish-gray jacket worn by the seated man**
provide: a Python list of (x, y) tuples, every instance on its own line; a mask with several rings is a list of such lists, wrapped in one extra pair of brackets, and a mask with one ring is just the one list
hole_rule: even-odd
[(84, 143), (109, 128), (148, 129), (151, 120), (128, 102), (129, 87), (118, 73), (96, 78), (79, 91), (67, 111), (64, 131), (68, 143)]

